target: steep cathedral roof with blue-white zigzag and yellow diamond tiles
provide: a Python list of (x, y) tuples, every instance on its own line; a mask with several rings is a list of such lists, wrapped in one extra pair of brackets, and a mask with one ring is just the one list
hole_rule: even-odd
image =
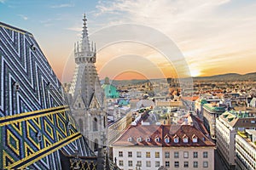
[(0, 22), (0, 56), (0, 169), (61, 169), (59, 150), (93, 156), (32, 34)]

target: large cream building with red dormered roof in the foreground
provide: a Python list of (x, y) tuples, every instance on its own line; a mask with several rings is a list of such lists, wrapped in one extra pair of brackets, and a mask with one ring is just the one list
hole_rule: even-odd
[(190, 125), (129, 127), (113, 144), (120, 169), (214, 169), (214, 147)]

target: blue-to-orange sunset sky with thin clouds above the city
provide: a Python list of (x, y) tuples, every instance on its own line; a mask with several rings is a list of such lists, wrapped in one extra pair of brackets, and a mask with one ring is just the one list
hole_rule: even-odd
[[(62, 82), (73, 75), (84, 13), (101, 78), (182, 77), (184, 65), (191, 76), (256, 71), (254, 0), (0, 0), (0, 21), (32, 32)], [(127, 31), (116, 29), (122, 24)], [(122, 39), (132, 26), (148, 38)], [(118, 38), (104, 44), (103, 33)]]

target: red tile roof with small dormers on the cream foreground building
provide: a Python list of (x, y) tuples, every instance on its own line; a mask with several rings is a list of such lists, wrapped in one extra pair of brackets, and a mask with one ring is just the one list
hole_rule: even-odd
[[(188, 143), (183, 143), (183, 136), (189, 138)], [(170, 138), (170, 142), (165, 142), (165, 137)], [(174, 142), (174, 137), (178, 137), (178, 142)], [(159, 137), (160, 141), (155, 139)], [(128, 139), (131, 138), (131, 141)], [(138, 138), (142, 138), (142, 141), (138, 141)], [(146, 141), (150, 138), (150, 141)], [(197, 138), (197, 143), (193, 143), (192, 139)], [(148, 125), (148, 126), (130, 126), (120, 137), (117, 139), (113, 146), (159, 146), (159, 147), (170, 147), (170, 146), (215, 146), (212, 140), (208, 139), (207, 136), (201, 133), (200, 130), (190, 125)]]

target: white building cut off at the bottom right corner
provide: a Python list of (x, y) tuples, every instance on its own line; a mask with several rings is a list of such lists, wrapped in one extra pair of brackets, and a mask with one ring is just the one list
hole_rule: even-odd
[(236, 134), (236, 169), (256, 169), (256, 130)]

